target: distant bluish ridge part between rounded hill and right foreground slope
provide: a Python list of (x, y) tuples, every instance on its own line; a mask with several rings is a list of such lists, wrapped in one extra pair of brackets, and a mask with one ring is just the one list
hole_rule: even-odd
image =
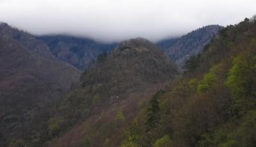
[(186, 60), (200, 53), (205, 45), (207, 45), (214, 36), (218, 35), (218, 32), (223, 28), (224, 27), (218, 25), (205, 26), (180, 38), (162, 40), (158, 42), (157, 45), (159, 45), (177, 65), (184, 66)]

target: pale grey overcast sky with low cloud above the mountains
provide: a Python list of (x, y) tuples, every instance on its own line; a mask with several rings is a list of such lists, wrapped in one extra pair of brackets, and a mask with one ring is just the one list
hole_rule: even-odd
[(256, 0), (0, 0), (0, 21), (34, 35), (68, 34), (113, 42), (180, 36), (256, 14)]

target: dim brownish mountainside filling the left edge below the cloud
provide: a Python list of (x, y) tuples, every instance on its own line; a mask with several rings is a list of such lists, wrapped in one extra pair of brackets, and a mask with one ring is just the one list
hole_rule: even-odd
[(42, 123), (79, 75), (44, 42), (0, 24), (0, 146)]

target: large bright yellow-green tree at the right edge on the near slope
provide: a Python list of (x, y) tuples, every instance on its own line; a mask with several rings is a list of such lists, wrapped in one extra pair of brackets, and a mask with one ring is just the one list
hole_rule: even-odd
[(256, 56), (252, 52), (243, 52), (233, 61), (228, 72), (226, 85), (234, 97), (234, 110), (243, 114), (246, 109), (255, 108), (256, 104)]

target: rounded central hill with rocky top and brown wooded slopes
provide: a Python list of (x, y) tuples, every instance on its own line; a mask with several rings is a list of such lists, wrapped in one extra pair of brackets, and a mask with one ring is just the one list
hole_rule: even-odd
[[(109, 55), (100, 56), (83, 73), (81, 86), (62, 101), (49, 132), (58, 137), (65, 126), (74, 127), (51, 146), (118, 146), (136, 109), (177, 74), (168, 56), (147, 40), (120, 43)], [(51, 130), (52, 125), (58, 129)]]

